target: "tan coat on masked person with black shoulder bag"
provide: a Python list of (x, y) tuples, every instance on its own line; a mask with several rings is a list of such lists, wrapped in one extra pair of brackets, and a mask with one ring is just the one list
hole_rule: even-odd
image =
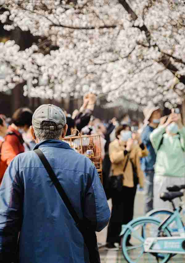
[[(123, 174), (123, 169), (125, 167), (126, 160), (128, 158), (128, 154), (124, 155), (125, 147), (119, 143), (119, 140), (114, 140), (112, 143), (109, 144), (109, 157), (112, 163), (112, 174), (113, 176), (117, 176)], [(145, 146), (145, 149), (142, 150), (139, 144), (133, 146), (130, 152), (130, 159), (134, 163), (135, 167), (137, 168), (139, 184), (143, 187), (143, 171), (141, 170), (140, 165), (140, 158), (145, 157), (148, 155), (148, 150)], [(132, 164), (128, 161), (125, 173), (123, 176), (123, 185), (128, 187), (134, 187), (134, 180), (133, 180), (133, 169)]]

